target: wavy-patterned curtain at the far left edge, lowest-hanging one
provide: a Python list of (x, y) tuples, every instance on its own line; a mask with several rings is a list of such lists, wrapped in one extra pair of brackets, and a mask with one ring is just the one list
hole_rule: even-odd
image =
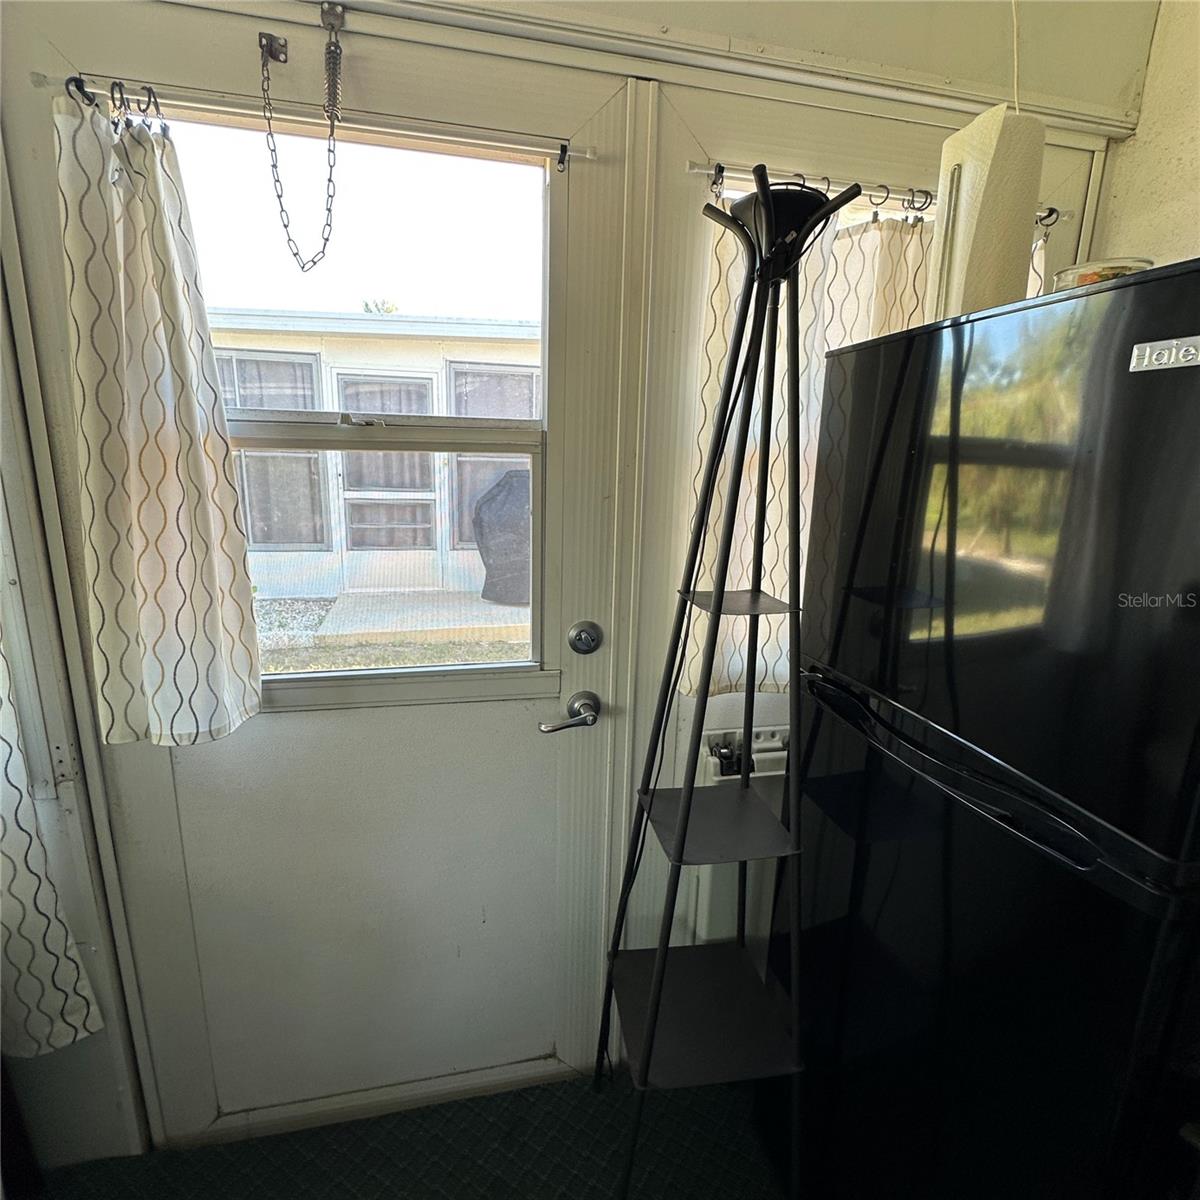
[(32, 1058), (104, 1022), (49, 876), (5, 658), (6, 617), (0, 612), (0, 1050)]

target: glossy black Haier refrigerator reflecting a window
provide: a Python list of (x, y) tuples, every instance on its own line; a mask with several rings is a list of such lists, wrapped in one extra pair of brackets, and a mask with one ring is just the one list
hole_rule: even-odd
[(814, 1200), (1193, 1195), (1198, 335), (1194, 260), (829, 356), (792, 756)]

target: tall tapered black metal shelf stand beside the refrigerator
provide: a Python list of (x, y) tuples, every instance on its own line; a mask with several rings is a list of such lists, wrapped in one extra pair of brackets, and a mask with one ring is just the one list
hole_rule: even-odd
[[(612, 1006), (620, 1012), (622, 1030), (637, 1088), (629, 1153), (619, 1196), (629, 1194), (647, 1088), (691, 1087), (702, 1084), (792, 1075), (793, 1138), (791, 1183), (799, 1188), (800, 1105), (800, 773), (787, 770), (782, 782), (764, 786), (751, 778), (750, 748), (758, 655), (758, 624), (763, 616), (787, 614), (790, 635), (788, 754), (799, 748), (800, 730), (800, 260), (836, 211), (857, 197), (856, 184), (832, 199), (800, 184), (772, 184), (763, 166), (754, 169), (755, 188), (731, 205), (712, 204), (704, 215), (738, 240), (745, 265), (734, 311), (713, 436), (701, 475), (700, 496), (683, 568), (683, 581), (662, 670), (649, 745), (634, 803), (625, 869), (608, 952), (595, 1084), (604, 1079)], [(762, 590), (763, 542), (770, 485), (772, 408), (775, 396), (775, 346), (779, 310), (786, 284), (787, 356), (787, 600)], [(748, 334), (749, 325), (749, 334)], [(737, 530), (739, 492), (750, 439), (755, 389), (760, 402), (758, 461), (755, 480), (752, 559), (749, 589), (726, 587)], [(733, 434), (730, 446), (730, 434)], [(725, 509), (713, 569), (712, 589), (697, 590), (706, 535), (718, 493), (722, 457), (728, 454)], [(659, 790), (667, 715), (678, 689), (691, 629), (690, 610), (709, 613), (696, 685), (683, 784)], [(737, 778), (714, 787), (697, 787), (703, 748), (704, 712), (713, 662), (726, 616), (744, 616), (745, 703), (742, 764)], [(622, 935), (629, 898), (637, 877), (647, 828), (666, 852), (670, 870), (658, 946), (653, 950), (623, 950)], [(760, 978), (746, 953), (746, 863), (752, 859), (794, 858), (787, 872), (791, 910), (791, 980), (786, 996)], [(685, 864), (738, 864), (737, 938), (701, 946), (671, 947), (680, 874)]]

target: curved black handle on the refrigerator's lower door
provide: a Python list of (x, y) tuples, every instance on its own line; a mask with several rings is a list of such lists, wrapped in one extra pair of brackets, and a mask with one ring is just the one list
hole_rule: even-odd
[[(1090, 871), (1100, 863), (1103, 854), (1099, 847), (1080, 829), (1076, 829), (1057, 814), (1039, 805), (1032, 798), (1021, 796), (998, 781), (976, 779), (970, 772), (946, 763), (936, 755), (931, 755), (912, 738), (882, 722), (871, 710), (870, 706), (848, 689), (829, 679), (810, 678), (809, 691), (824, 708), (828, 708), (834, 715), (858, 730), (863, 738), (880, 754), (886, 755), (906, 770), (920, 776), (928, 784), (938, 788), (938, 791), (952, 796), (980, 816), (1003, 826), (1009, 833), (1020, 838), (1021, 841), (1034, 850), (1049, 854), (1051, 858), (1076, 871)], [(880, 734), (880, 728), (886, 732), (888, 738), (894, 738), (906, 751), (922, 760), (922, 764), (918, 766), (907, 761), (907, 758), (888, 745), (884, 737)], [(949, 773), (956, 776), (955, 781), (953, 784), (948, 782), (946, 779), (938, 778), (938, 773)], [(1006, 804), (994, 804), (983, 797), (965, 792), (962, 790), (962, 780), (982, 784), (989, 791), (994, 791), (1003, 797)], [(1058, 845), (1055, 845), (1054, 841), (1048, 840), (1044, 835), (1039, 836), (1038, 832), (1031, 828), (1031, 822), (1022, 820), (1016, 811), (1013, 811), (1014, 808), (1032, 814), (1034, 818), (1032, 823), (1040, 824), (1043, 834), (1052, 830), (1054, 839)]]

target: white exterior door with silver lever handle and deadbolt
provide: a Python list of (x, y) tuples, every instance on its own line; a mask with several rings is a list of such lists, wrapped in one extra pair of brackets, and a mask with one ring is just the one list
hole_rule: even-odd
[[(172, 80), (158, 88), (168, 118), (173, 90), (253, 112), (265, 17), (149, 6), (162, 36), (131, 38), (112, 5), (80, 5), (73, 24), (55, 16), (52, 49), (42, 6), (24, 7), (12, 24), (37, 48), (26, 71), (61, 73), (65, 54), (130, 82)], [(323, 36), (314, 11), (295, 8), (294, 23), (264, 28), (289, 36), (298, 65), (277, 72), (281, 100), (311, 116), (319, 79), (300, 64), (319, 61)], [(145, 34), (148, 18), (132, 19)], [(350, 14), (349, 127), (503, 142), (490, 132), (499, 128), (522, 152), (548, 155), (545, 420), (518, 431), (534, 475), (530, 662), (284, 680), (269, 684), (266, 712), (215, 744), (106, 749), (144, 1020), (139, 1069), (160, 1144), (552, 1078), (594, 1052), (611, 792), (626, 742), (628, 580), (616, 547), (631, 515), (616, 498), (632, 461), (622, 438), (636, 424), (620, 415), (622, 295), (626, 222), (641, 220), (625, 194), (641, 85), (402, 36), (388, 18)], [(22, 95), (13, 107), (26, 109), (6, 113), (6, 134), (12, 115), (30, 143), (47, 140), (48, 102), (47, 91)], [(583, 151), (562, 174), (560, 142)], [(42, 155), (28, 194), (53, 196), (53, 169)], [(18, 206), (35, 313), (53, 330), (53, 205)], [(58, 347), (46, 353), (53, 403), (70, 395), (54, 386), (68, 365)], [(68, 431), (70, 415), (55, 424)], [(485, 430), (478, 445), (443, 432), (402, 436), (468, 457), (512, 440), (502, 436), (511, 430)], [(451, 565), (462, 552), (450, 547)], [(372, 557), (349, 588), (370, 587)], [(421, 586), (437, 572), (418, 574)], [(565, 646), (580, 618), (606, 631), (586, 658)], [(604, 702), (598, 726), (538, 731), (584, 688)]]

